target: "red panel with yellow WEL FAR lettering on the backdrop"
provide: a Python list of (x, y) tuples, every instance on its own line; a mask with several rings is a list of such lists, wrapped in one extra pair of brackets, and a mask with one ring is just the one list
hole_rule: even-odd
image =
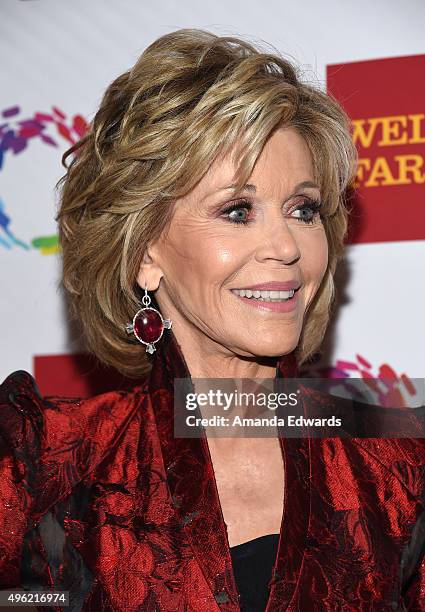
[(327, 66), (359, 151), (349, 243), (425, 239), (425, 55)]

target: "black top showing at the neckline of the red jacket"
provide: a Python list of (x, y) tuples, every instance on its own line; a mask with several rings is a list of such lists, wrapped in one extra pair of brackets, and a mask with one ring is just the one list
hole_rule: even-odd
[(276, 560), (279, 534), (271, 533), (230, 547), (242, 612), (264, 612), (268, 582)]

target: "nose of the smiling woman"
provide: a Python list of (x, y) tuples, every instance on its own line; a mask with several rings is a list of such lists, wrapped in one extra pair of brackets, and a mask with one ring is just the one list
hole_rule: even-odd
[(273, 224), (268, 224), (262, 233), (255, 258), (258, 262), (275, 260), (284, 264), (296, 263), (301, 257), (296, 231), (292, 231), (282, 217)]

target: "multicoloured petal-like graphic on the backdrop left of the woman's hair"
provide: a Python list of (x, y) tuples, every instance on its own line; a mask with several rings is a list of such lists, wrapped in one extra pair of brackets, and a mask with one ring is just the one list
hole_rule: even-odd
[[(65, 140), (69, 145), (73, 145), (87, 132), (88, 124), (81, 115), (73, 115), (68, 119), (66, 114), (56, 107), (52, 107), (51, 113), (36, 112), (30, 119), (18, 119), (20, 112), (19, 106), (13, 106), (1, 113), (3, 123), (0, 124), (0, 170), (4, 169), (6, 158), (28, 151), (33, 139), (59, 148), (60, 141)], [(0, 197), (0, 247), (37, 249), (42, 255), (57, 252), (56, 235), (36, 236), (25, 242), (17, 236), (12, 226), (13, 220)]]

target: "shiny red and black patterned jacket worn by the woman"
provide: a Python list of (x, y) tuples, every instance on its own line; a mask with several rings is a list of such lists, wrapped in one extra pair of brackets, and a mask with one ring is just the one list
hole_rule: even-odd
[[(131, 392), (43, 399), (23, 371), (1, 385), (1, 588), (70, 591), (70, 612), (240, 609), (207, 440), (173, 437), (189, 372), (172, 333), (160, 344)], [(267, 612), (425, 610), (425, 440), (279, 440)]]

